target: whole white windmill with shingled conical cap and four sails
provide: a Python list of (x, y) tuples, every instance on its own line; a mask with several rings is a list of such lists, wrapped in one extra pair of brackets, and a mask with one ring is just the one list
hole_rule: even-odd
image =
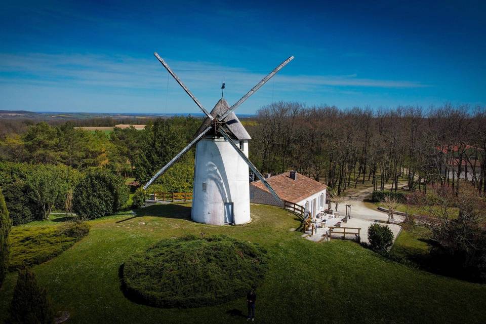
[(291, 56), (278, 65), (231, 107), (228, 106), (224, 98), (221, 98), (209, 113), (169, 65), (157, 53), (154, 53), (154, 55), (206, 114), (206, 118), (197, 130), (194, 139), (164, 168), (160, 169), (143, 188), (147, 189), (155, 179), (166, 172), (193, 145), (196, 145), (192, 220), (213, 225), (250, 222), (248, 168), (267, 186), (276, 199), (281, 200), (248, 159), (248, 141), (251, 137), (234, 114), (234, 110), (260, 89), (282, 67), (292, 61), (294, 57)]

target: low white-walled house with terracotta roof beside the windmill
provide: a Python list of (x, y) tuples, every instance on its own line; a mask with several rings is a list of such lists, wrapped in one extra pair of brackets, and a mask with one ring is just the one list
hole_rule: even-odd
[[(266, 180), (282, 200), (304, 206), (312, 215), (326, 209), (327, 186), (325, 184), (295, 171), (271, 176)], [(280, 206), (261, 181), (250, 183), (250, 202)]]

